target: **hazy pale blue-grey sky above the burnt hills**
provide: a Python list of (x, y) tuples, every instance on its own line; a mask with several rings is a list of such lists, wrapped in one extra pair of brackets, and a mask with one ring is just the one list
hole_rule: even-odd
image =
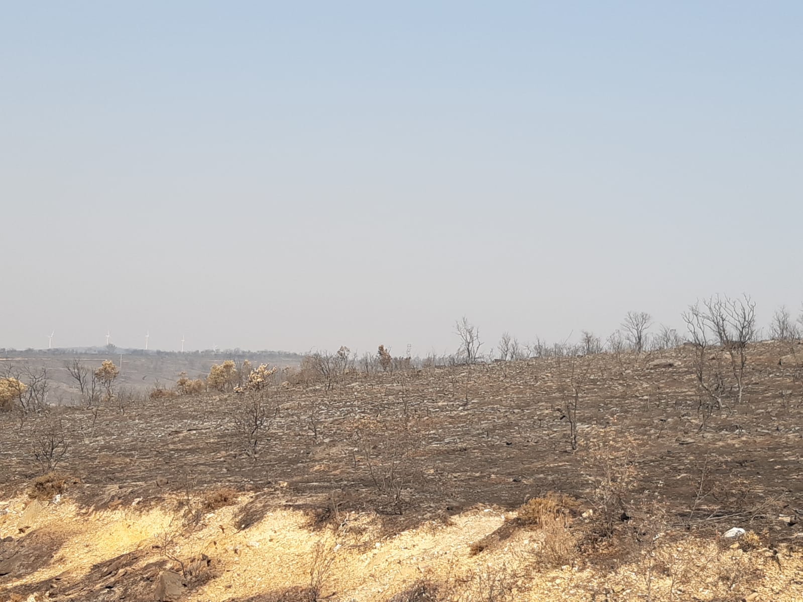
[(801, 2), (0, 7), (0, 347), (803, 301)]

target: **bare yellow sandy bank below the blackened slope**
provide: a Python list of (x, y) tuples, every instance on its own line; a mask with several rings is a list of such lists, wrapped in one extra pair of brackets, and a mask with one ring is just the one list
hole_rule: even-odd
[[(26, 533), (34, 534), (34, 541), (57, 543), (51, 558), (24, 576), (0, 578), (0, 585), (11, 591), (23, 584), (43, 584), (43, 595), (48, 580), (90, 580), (98, 563), (132, 551), (142, 554), (132, 571), (158, 559), (169, 563), (153, 545), (165, 532), (176, 531), (180, 535), (173, 555), (190, 559), (206, 554), (214, 559), (214, 578), (190, 588), (182, 598), (187, 602), (247, 599), (308, 587), (316, 550), (331, 561), (323, 571), (320, 593), (332, 600), (389, 600), (428, 580), (445, 584), (455, 599), (471, 602), (482, 593), (483, 576), (491, 573), (503, 573), (511, 588), (512, 597), (498, 600), (589, 600), (593, 592), (601, 600), (605, 592), (609, 600), (643, 600), (648, 592), (654, 600), (803, 600), (800, 552), (779, 559), (766, 548), (743, 551), (713, 539), (687, 539), (656, 544), (638, 561), (612, 572), (582, 563), (540, 570), (533, 562), (543, 543), (538, 531), (516, 531), (499, 547), (471, 555), (472, 542), (513, 516), (494, 508), (468, 510), (447, 524), (425, 523), (383, 538), (376, 517), (367, 513), (351, 515), (340, 531), (312, 531), (308, 515), (271, 510), (240, 529), (235, 524), (238, 510), (253, 498), (243, 494), (236, 505), (207, 514), (196, 528), (181, 524), (177, 504), (97, 512), (70, 503), (43, 506)], [(17, 520), (25, 504), (23, 498), (7, 502), (0, 538), (18, 536)], [(724, 598), (726, 594), (731, 597)], [(748, 598), (752, 594), (757, 595)]]

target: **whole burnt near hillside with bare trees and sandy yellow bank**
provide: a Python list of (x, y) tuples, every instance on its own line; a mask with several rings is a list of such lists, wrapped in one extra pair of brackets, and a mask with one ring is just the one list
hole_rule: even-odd
[(98, 397), (0, 414), (0, 600), (801, 600), (803, 347), (751, 312), (496, 362), (464, 319), (451, 358), (224, 362), (122, 402), (79, 366)]

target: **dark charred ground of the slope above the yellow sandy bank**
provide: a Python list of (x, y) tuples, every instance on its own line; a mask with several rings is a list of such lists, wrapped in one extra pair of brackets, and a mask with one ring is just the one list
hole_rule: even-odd
[[(741, 527), (760, 534), (761, 549), (777, 555), (779, 546), (803, 541), (803, 525), (797, 523), (803, 519), (803, 347), (753, 345), (741, 401), (727, 355), (711, 352), (707, 368), (720, 360), (723, 386), (717, 405), (701, 393), (693, 349), (687, 347), (641, 356), (600, 354), (369, 375), (357, 371), (331, 387), (286, 383), (263, 399), (266, 421), (255, 448), (235, 421), (247, 405), (237, 393), (148, 400), (124, 409), (112, 404), (96, 412), (66, 408), (24, 420), (6, 413), (0, 415), (0, 500), (6, 500), (6, 517), (18, 518), (14, 513), (23, 511), (21, 500), (42, 473), (34, 455), (38, 441), (58, 421), (69, 445), (55, 469), (68, 477), (59, 504), (71, 504), (77, 514), (70, 516), (97, 515), (114, 523), (115, 513), (123, 511), (141, 516), (173, 509), (185, 517), (199, 496), (226, 486), (243, 498), (227, 519), (230, 527), (219, 527), (222, 537), (229, 535), (227, 528), (247, 533), (263, 528), (270, 517), (275, 522), (275, 513), (290, 513), (308, 517), (292, 527), (308, 534), (343, 517), (360, 517), (370, 521), (365, 532), (378, 542), (417, 532), (410, 530), (426, 531), (432, 524), (454, 529), (450, 522), (471, 522), (466, 517), (482, 514), (483, 508), (493, 509), (496, 517), (511, 515), (529, 498), (550, 491), (577, 499), (586, 516), (595, 509), (599, 515), (609, 502), (603, 499), (605, 491), (614, 491), (623, 524), (650, 523), (650, 512), (659, 508), (662, 526), (676, 534), (705, 542)], [(576, 415), (571, 412), (575, 402)], [(572, 449), (572, 420), (577, 449)], [(254, 449), (255, 454), (247, 453)], [(62, 511), (59, 504), (37, 503), (44, 504), (43, 512)], [(198, 528), (203, 527), (204, 519), (198, 520)], [(577, 524), (582, 520), (578, 515)], [(8, 550), (18, 539), (35, 535), (35, 530), (6, 535), (6, 527), (2, 534), (12, 538), (4, 544)], [(486, 527), (468, 539), (492, 535), (499, 524)], [(128, 543), (115, 547), (116, 553), (132, 553), (141, 563), (169, 563), (153, 548), (157, 535), (145, 531), (125, 539)], [(36, 584), (59, 574), (52, 563), (67, 538), (63, 530), (59, 533), (49, 545), (41, 544), (45, 552), (31, 551), (15, 575), (0, 576), (0, 585), (5, 580), (14, 592), (28, 595)], [(473, 558), (463, 547), (460, 553)], [(17, 554), (22, 548), (14, 549)], [(8, 550), (4, 554), (13, 557)], [(503, 550), (493, 554), (504, 558)], [(606, 571), (621, 569), (615, 559), (611, 562)], [(789, 584), (799, 579), (799, 568), (789, 569)], [(41, 579), (32, 577), (38, 573)], [(418, 579), (419, 573), (405, 579)], [(144, 573), (137, 569), (137, 574)], [(94, 579), (100, 583), (95, 573), (84, 571), (65, 574), (61, 581), (83, 583), (92, 591)], [(220, 585), (220, 579), (213, 581)], [(763, 592), (765, 586), (770, 587), (761, 582), (754, 589)], [(518, 587), (529, 591), (524, 584)], [(123, 589), (108, 591), (118, 595)], [(194, 591), (192, 596), (202, 596), (201, 589)], [(333, 599), (350, 599), (342, 592), (337, 596)], [(377, 596), (353, 594), (357, 600), (381, 599)], [(583, 596), (567, 599), (592, 599)], [(678, 594), (675, 599), (719, 599), (711, 596)], [(229, 597), (270, 599), (238, 597), (237, 592)], [(514, 599), (539, 598), (522, 593)], [(621, 592), (609, 597), (630, 599)]]

